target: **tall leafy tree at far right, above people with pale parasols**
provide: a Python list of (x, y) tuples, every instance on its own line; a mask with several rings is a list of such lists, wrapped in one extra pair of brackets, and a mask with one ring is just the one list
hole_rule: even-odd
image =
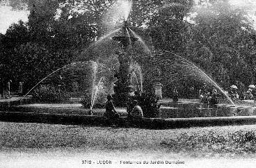
[(255, 31), (246, 12), (224, 1), (199, 8), (197, 13), (187, 47), (189, 58), (221, 85), (227, 87), (237, 80), (249, 84), (254, 78), (248, 72), (253, 62), (250, 52), (255, 48), (251, 35)]

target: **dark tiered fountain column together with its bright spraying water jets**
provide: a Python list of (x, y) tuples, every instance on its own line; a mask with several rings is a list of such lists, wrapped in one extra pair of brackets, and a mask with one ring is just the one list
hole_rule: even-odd
[[(137, 41), (141, 42), (141, 44), (143, 44), (143, 48), (145, 49), (146, 53), (150, 52), (150, 49), (147, 47), (143, 39), (139, 35), (137, 35), (134, 31), (132, 31), (131, 28), (129, 28), (127, 19), (129, 17), (129, 11), (131, 10), (131, 3), (128, 3), (128, 1), (120, 1), (120, 4), (118, 5), (121, 6), (122, 10), (124, 10), (123, 12), (125, 13), (125, 15), (118, 16), (118, 17), (122, 17), (123, 19), (122, 28), (116, 28), (114, 31), (112, 29), (110, 33), (107, 33), (107, 35), (104, 35), (102, 38), (99, 38), (99, 40), (97, 40), (97, 42), (95, 42), (92, 46), (90, 46), (89, 49), (91, 49), (92, 47), (97, 47), (97, 45), (102, 44), (103, 40), (108, 39), (109, 37), (114, 35), (114, 33), (118, 33), (118, 31), (122, 30), (122, 35), (116, 35), (111, 38), (112, 40), (117, 41), (119, 44), (119, 48), (117, 51), (115, 51), (115, 53), (118, 55), (118, 61), (120, 63), (119, 70), (118, 72), (115, 73), (115, 77), (118, 78), (118, 81), (115, 81), (114, 83), (115, 85), (113, 86), (113, 90), (114, 90), (113, 99), (116, 106), (126, 106), (129, 96), (132, 96), (134, 94), (134, 91), (136, 90), (134, 88), (134, 85), (132, 85), (131, 83), (132, 81), (131, 78), (136, 79), (136, 85), (138, 90), (141, 90), (141, 91), (143, 90), (141, 71), (138, 74), (139, 76), (138, 78), (136, 72), (134, 72), (134, 69), (131, 68), (132, 56), (134, 54), (134, 51), (133, 51), (134, 44)], [(154, 53), (156, 53), (155, 54), (156, 56), (162, 55), (162, 53), (159, 53), (158, 51), (154, 51)], [(167, 55), (169, 56), (170, 53), (167, 53), (166, 56)], [(195, 76), (202, 77), (200, 79), (209, 81), (209, 83), (214, 83), (213, 85), (218, 87), (218, 85), (214, 81), (212, 81), (211, 78), (207, 76), (207, 74), (202, 72), (199, 68), (196, 68), (195, 65), (193, 65), (193, 63), (191, 62), (187, 63), (187, 61), (184, 61), (184, 58), (180, 56), (175, 56), (175, 57), (178, 58), (177, 60), (181, 60), (179, 61), (180, 65), (177, 66), (177, 64), (173, 64), (172, 60), (170, 60), (170, 58), (168, 57), (166, 57), (166, 59), (164, 60), (164, 64), (166, 64), (167, 62), (168, 66), (170, 67), (175, 67), (175, 66), (181, 67), (185, 65), (185, 67), (189, 67), (189, 68), (185, 68), (185, 69), (188, 69), (186, 72), (193, 73), (193, 75)], [(186, 64), (184, 64), (183, 62), (186, 62)], [(161, 63), (161, 62), (158, 62), (158, 63)], [(177, 69), (176, 67), (173, 69)], [(63, 69), (65, 69), (65, 67), (63, 67)], [(184, 73), (184, 71), (182, 73), (186, 74)], [(93, 72), (93, 76), (94, 76), (93, 89), (92, 89), (91, 100), (90, 100), (90, 110), (92, 110), (95, 100), (97, 99), (97, 85), (95, 85), (95, 80), (96, 80), (95, 72)], [(101, 81), (101, 79), (99, 81)], [(138, 87), (138, 85), (140, 85), (140, 87)], [(223, 92), (221, 87), (218, 87), (218, 89), (221, 90), (221, 92)], [(228, 96), (227, 96), (227, 99), (229, 99)], [(232, 104), (234, 105), (233, 102)]]

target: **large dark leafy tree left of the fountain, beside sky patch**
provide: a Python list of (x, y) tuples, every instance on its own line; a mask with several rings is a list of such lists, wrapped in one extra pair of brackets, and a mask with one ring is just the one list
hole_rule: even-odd
[(23, 79), (31, 87), (54, 70), (70, 64), (95, 40), (95, 31), (85, 22), (85, 15), (72, 18), (61, 15), (57, 19), (58, 1), (31, 1), (29, 6), (29, 22), (13, 24), (3, 36), (1, 62), (8, 65), (8, 78)]

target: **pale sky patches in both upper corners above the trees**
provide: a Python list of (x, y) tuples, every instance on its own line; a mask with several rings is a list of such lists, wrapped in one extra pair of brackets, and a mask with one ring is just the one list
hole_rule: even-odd
[[(256, 1), (255, 0), (230, 0), (234, 6), (250, 8), (250, 17), (255, 22), (256, 29)], [(5, 34), (10, 24), (17, 23), (19, 19), (28, 21), (29, 11), (12, 10), (10, 6), (0, 6), (0, 33)]]

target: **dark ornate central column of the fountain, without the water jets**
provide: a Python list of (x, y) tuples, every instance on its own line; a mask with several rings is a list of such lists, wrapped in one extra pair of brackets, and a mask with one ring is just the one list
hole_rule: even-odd
[(115, 77), (118, 78), (114, 84), (113, 101), (115, 106), (125, 107), (129, 96), (134, 94), (134, 86), (131, 85), (131, 73), (130, 69), (134, 42), (138, 41), (137, 37), (131, 36), (129, 33), (129, 27), (125, 21), (122, 27), (123, 35), (112, 37), (113, 40), (118, 41), (119, 49), (115, 51), (118, 55), (118, 61), (120, 67), (118, 72), (115, 73)]

